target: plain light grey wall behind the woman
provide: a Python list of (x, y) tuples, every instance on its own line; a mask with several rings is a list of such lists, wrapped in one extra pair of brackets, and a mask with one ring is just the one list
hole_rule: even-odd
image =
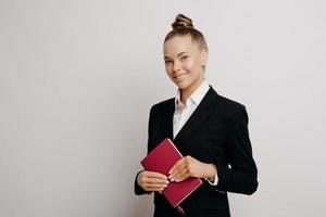
[(233, 216), (324, 217), (323, 0), (0, 0), (0, 216), (145, 217), (150, 106), (175, 94), (162, 42), (178, 12), (206, 78), (247, 105), (260, 187)]

